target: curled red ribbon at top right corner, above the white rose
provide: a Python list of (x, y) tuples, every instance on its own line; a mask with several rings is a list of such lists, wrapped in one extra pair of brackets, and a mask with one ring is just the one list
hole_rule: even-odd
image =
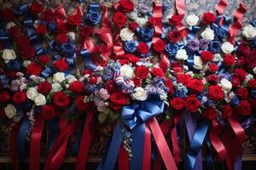
[(243, 26), (242, 25), (242, 17), (243, 17), (243, 14), (245, 14), (247, 12), (247, 7), (244, 3), (240, 2), (240, 5), (239, 5), (239, 8), (236, 9), (236, 12), (234, 14), (234, 17), (235, 17), (235, 22), (232, 24), (232, 26), (230, 26), (230, 36), (228, 37), (228, 41), (229, 42), (232, 42), (232, 43), (235, 43), (233, 42), (238, 31), (241, 30), (241, 27)]

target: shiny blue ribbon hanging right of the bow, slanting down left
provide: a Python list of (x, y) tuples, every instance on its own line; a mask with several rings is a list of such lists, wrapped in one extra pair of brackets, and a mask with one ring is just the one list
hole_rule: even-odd
[(190, 143), (189, 151), (185, 156), (186, 169), (193, 170), (195, 166), (196, 156), (201, 150), (201, 145), (207, 135), (208, 123), (206, 121), (196, 128), (195, 135)]

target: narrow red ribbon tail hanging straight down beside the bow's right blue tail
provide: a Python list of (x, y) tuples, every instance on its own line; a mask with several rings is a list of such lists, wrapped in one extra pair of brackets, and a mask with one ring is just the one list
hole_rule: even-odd
[(151, 167), (151, 133), (148, 122), (145, 126), (145, 144), (143, 151), (143, 170), (150, 170)]

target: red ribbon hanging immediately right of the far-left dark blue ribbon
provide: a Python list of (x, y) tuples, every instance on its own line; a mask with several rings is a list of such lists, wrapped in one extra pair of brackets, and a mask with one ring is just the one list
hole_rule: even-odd
[(44, 118), (38, 116), (36, 118), (35, 126), (32, 129), (31, 134), (31, 145), (29, 155), (29, 169), (39, 170), (40, 169), (40, 146), (41, 137), (44, 130)]

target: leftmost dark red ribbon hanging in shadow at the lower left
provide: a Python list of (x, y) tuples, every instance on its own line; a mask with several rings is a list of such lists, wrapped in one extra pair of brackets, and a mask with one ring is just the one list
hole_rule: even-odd
[(19, 169), (19, 155), (18, 155), (18, 134), (20, 123), (15, 124), (9, 133), (9, 156), (13, 162), (14, 170)]

